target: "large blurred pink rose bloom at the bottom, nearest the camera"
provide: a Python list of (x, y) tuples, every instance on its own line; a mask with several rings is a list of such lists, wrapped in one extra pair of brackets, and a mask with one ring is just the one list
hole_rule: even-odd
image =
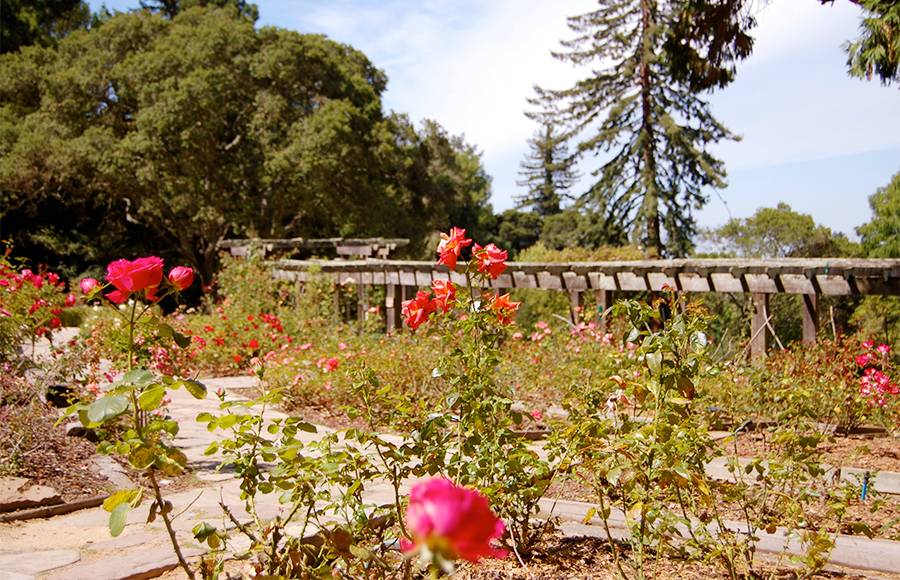
[(406, 527), (412, 542), (403, 551), (427, 547), (445, 558), (477, 562), (484, 557), (504, 558), (506, 550), (491, 545), (505, 531), (487, 499), (477, 491), (448, 479), (429, 479), (413, 486), (406, 508)]

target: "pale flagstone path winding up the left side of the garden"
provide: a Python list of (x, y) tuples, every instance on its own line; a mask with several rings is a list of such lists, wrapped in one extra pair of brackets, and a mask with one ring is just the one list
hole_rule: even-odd
[[(251, 387), (250, 377), (233, 377), (203, 381), (212, 393), (222, 387), (229, 393)], [(185, 556), (197, 556), (203, 549), (196, 545), (191, 529), (202, 521), (220, 524), (220, 494), (236, 514), (245, 513), (240, 500), (238, 482), (227, 473), (217, 473), (217, 458), (203, 455), (207, 445), (219, 433), (210, 433), (196, 422), (203, 411), (218, 412), (218, 400), (208, 396), (197, 400), (183, 390), (170, 393), (170, 413), (181, 425), (175, 443), (185, 452), (196, 477), (203, 482), (198, 489), (165, 494), (173, 513), (187, 511), (175, 520), (179, 541)], [(271, 418), (284, 417), (272, 411)], [(150, 578), (174, 567), (175, 559), (161, 519), (146, 524), (145, 502), (128, 516), (125, 531), (111, 538), (107, 527), (109, 514), (102, 508), (42, 520), (0, 524), (0, 580), (46, 577), (55, 579), (102, 580), (116, 578)], [(190, 507), (188, 507), (190, 506)], [(261, 496), (260, 515), (274, 517), (281, 509), (277, 495)], [(240, 517), (240, 516), (239, 516)], [(47, 552), (51, 550), (52, 552)], [(47, 554), (53, 557), (47, 557)]]

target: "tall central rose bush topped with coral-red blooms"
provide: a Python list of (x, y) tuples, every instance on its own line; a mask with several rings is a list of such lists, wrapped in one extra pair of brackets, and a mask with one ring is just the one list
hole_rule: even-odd
[[(472, 244), (465, 230), (441, 234), (439, 263), (451, 270)], [(435, 329), (448, 352), (433, 375), (446, 385), (443, 408), (435, 409), (417, 432), (422, 466), (482, 491), (507, 524), (508, 540), (521, 557), (540, 539), (544, 524), (532, 521), (559, 461), (541, 458), (515, 432), (523, 416), (513, 410), (513, 393), (496, 381), (507, 327), (519, 304), (509, 295), (486, 292), (506, 269), (507, 253), (494, 244), (475, 244), (463, 266), (465, 288), (435, 280), (403, 305), (410, 328), (435, 315)]]

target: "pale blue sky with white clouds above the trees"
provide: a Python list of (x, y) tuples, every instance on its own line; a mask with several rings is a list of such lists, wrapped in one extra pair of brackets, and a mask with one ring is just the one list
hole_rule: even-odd
[[(101, 2), (91, 0), (93, 8)], [(107, 0), (111, 9), (137, 0)], [(583, 71), (550, 51), (569, 37), (567, 15), (592, 0), (261, 0), (260, 25), (317, 32), (352, 44), (387, 72), (385, 106), (464, 134), (493, 176), (496, 209), (512, 205), (534, 125), (523, 115), (535, 84), (565, 87)], [(771, 0), (757, 14), (754, 54), (710, 96), (741, 142), (715, 149), (728, 188), (710, 192), (702, 226), (779, 201), (853, 234), (867, 197), (900, 171), (900, 90), (846, 75), (844, 41), (860, 10), (850, 2)], [(583, 184), (586, 187), (587, 183)]]

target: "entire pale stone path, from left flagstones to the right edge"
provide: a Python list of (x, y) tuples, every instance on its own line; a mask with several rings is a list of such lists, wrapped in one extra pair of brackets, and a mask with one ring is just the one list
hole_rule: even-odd
[[(196, 400), (183, 390), (170, 393), (170, 413), (181, 425), (175, 443), (185, 452), (195, 476), (202, 483), (196, 489), (172, 494), (165, 494), (164, 489), (166, 498), (174, 506), (173, 513), (180, 514), (175, 520), (175, 528), (188, 558), (205, 551), (197, 545), (191, 533), (197, 523), (207, 521), (222, 525), (222, 512), (218, 505), (220, 497), (238, 518), (246, 515), (237, 480), (228, 473), (216, 472), (218, 458), (203, 454), (209, 443), (222, 435), (210, 433), (205, 424), (197, 423), (195, 419), (204, 411), (218, 413), (218, 400), (212, 395), (216, 389), (224, 388), (227, 396), (235, 399), (243, 389), (253, 387), (255, 379), (232, 377), (206, 379), (203, 382), (210, 391), (210, 396), (204, 400)], [(267, 416), (285, 417), (276, 411), (267, 412)], [(324, 432), (327, 428), (322, 430)], [(317, 436), (301, 435), (306, 441)], [(278, 494), (258, 496), (261, 517), (272, 518), (282, 510), (277, 498)], [(367, 491), (367, 499), (375, 503), (389, 503), (393, 501), (393, 493), (387, 485), (374, 486)], [(102, 508), (49, 519), (0, 524), (0, 580), (138, 579), (152, 578), (172, 570), (177, 562), (169, 538), (159, 518), (152, 524), (145, 523), (147, 505), (145, 502), (129, 514), (125, 531), (118, 538), (110, 537), (107, 528), (109, 514)], [(600, 526), (581, 523), (590, 507), (581, 502), (550, 499), (541, 503), (542, 515), (559, 517), (563, 521), (564, 533), (602, 536)], [(622, 514), (613, 513), (611, 525), (614, 535), (624, 534)], [(761, 551), (778, 552), (786, 543), (783, 532), (778, 531), (774, 534), (761, 533), (760, 538)], [(837, 540), (832, 561), (844, 566), (900, 574), (900, 542), (842, 536)]]

